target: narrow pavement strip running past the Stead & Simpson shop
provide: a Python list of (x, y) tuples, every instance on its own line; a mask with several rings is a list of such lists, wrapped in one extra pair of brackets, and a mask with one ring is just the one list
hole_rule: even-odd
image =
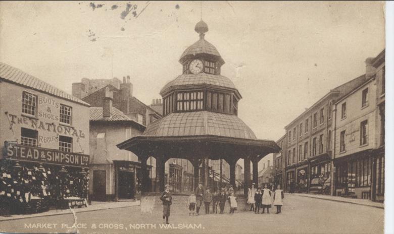
[[(92, 201), (91, 205), (88, 205), (88, 207), (74, 208), (74, 211), (76, 211), (78, 213), (82, 213), (82, 212), (88, 212), (88, 211), (124, 208), (124, 207), (130, 207), (130, 206), (139, 206), (139, 201), (121, 201), (121, 202)], [(64, 215), (64, 214), (71, 214), (71, 213), (72, 212), (70, 209), (50, 210), (50, 211), (36, 213), (36, 214), (16, 214), (16, 215), (11, 215), (11, 216), (0, 216), (0, 221), (25, 219), (25, 218), (33, 218), (33, 217), (45, 217), (45, 216), (53, 216), (53, 215)]]

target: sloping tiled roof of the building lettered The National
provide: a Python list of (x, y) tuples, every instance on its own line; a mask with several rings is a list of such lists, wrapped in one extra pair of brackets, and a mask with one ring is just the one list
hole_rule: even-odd
[(5, 63), (0, 63), (0, 79), (4, 79), (14, 84), (25, 86), (72, 102), (90, 106), (88, 103), (82, 101), (81, 99), (78, 99), (71, 94), (64, 92), (63, 90), (60, 90), (34, 76), (23, 72), (18, 68), (14, 68)]

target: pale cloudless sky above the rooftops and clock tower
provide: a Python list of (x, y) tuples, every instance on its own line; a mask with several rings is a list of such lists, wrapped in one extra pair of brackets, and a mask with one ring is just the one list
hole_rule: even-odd
[[(113, 76), (130, 75), (151, 104), (199, 39), (200, 3), (0, 2), (0, 61), (71, 93), (83, 77), (110, 79), (113, 54)], [(202, 12), (222, 75), (243, 97), (238, 116), (261, 139), (279, 139), (384, 48), (384, 2), (203, 1)]]

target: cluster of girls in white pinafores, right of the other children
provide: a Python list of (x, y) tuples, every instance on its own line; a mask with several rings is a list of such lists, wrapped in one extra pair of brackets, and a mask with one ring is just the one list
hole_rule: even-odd
[[(280, 189), (280, 185), (278, 185), (277, 189), (274, 191), (273, 194), (273, 204), (276, 207), (277, 214), (282, 212), (283, 198), (284, 193)], [(268, 189), (268, 185), (265, 184), (263, 189), (259, 187), (256, 190), (255, 183), (253, 183), (252, 188), (249, 189), (248, 192), (248, 204), (251, 205), (250, 211), (255, 211), (256, 214), (260, 213), (260, 207), (263, 208), (263, 213), (265, 213), (265, 209), (267, 209), (267, 213), (269, 213), (269, 208), (271, 208), (272, 200), (271, 190)]]

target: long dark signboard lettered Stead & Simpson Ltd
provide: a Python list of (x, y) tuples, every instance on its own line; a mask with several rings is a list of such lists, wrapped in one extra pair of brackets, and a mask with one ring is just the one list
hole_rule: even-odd
[(6, 144), (5, 156), (21, 161), (35, 161), (67, 166), (89, 166), (89, 155), (63, 152), (55, 149), (45, 149), (14, 143)]

